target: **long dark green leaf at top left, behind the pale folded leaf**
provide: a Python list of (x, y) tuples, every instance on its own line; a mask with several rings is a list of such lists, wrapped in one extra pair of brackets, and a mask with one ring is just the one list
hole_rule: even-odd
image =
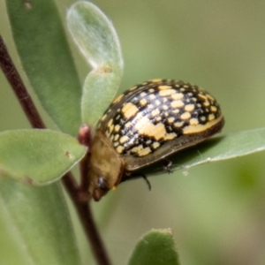
[(76, 136), (81, 85), (54, 0), (5, 1), (27, 78), (57, 126)]

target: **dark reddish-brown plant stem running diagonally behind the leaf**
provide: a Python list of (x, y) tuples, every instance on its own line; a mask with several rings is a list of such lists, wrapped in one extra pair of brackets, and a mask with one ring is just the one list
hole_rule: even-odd
[[(4, 40), (1, 35), (0, 66), (4, 72), (6, 79), (8, 79), (9, 83), (11, 84), (11, 88), (17, 96), (19, 103), (22, 109), (24, 110), (27, 119), (29, 120), (32, 127), (38, 129), (45, 129), (46, 126), (42, 121), (42, 117), (36, 109), (31, 96), (28, 94), (27, 88), (25, 87), (22, 79), (19, 76), (19, 72), (17, 71), (15, 65), (11, 60), (11, 57), (8, 53), (8, 50), (6, 49)], [(81, 179), (83, 179), (82, 182), (84, 182), (84, 179), (87, 178), (87, 175), (85, 176), (85, 174), (87, 174), (87, 169), (84, 163), (87, 163), (87, 155), (85, 156), (84, 161), (81, 162), (82, 170), (80, 171)], [(110, 265), (108, 254), (105, 250), (105, 246), (103, 245), (101, 236), (95, 224), (95, 220), (90, 208), (89, 197), (87, 197), (87, 200), (84, 200), (84, 196), (82, 196), (84, 191), (82, 187), (81, 189), (79, 188), (79, 185), (73, 178), (71, 172), (66, 173), (62, 178), (62, 181), (79, 215), (80, 222), (83, 225), (83, 229), (87, 235), (87, 239), (93, 249), (96, 261), (99, 265)]]

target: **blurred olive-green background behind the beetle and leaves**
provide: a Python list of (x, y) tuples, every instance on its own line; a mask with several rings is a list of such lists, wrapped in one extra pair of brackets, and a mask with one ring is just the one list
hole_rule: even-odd
[[(73, 2), (57, 0), (64, 25)], [(223, 133), (264, 127), (265, 2), (93, 3), (112, 20), (121, 42), (125, 74), (120, 92), (146, 79), (183, 79), (220, 102)], [(12, 42), (4, 1), (0, 33), (31, 89)], [(89, 66), (69, 34), (68, 39), (83, 81)], [(0, 131), (29, 127), (2, 72), (0, 86)], [(55, 128), (49, 117), (45, 120)], [(113, 264), (125, 264), (137, 239), (152, 228), (173, 229), (183, 265), (265, 264), (263, 161), (264, 153), (259, 153), (150, 178), (152, 192), (142, 179), (129, 181), (93, 203)], [(89, 246), (73, 211), (72, 218), (86, 262)]]

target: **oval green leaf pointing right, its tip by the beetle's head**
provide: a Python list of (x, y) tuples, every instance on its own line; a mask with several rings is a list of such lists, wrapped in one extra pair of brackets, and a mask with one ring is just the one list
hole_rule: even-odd
[(37, 129), (0, 133), (0, 172), (27, 184), (61, 178), (85, 153), (78, 140), (64, 133)]

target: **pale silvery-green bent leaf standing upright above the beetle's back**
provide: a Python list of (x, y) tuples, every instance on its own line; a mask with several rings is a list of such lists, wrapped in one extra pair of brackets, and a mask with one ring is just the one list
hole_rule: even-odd
[(67, 15), (68, 28), (93, 71), (87, 75), (81, 104), (82, 122), (95, 125), (117, 93), (123, 58), (117, 33), (94, 4), (80, 1)]

